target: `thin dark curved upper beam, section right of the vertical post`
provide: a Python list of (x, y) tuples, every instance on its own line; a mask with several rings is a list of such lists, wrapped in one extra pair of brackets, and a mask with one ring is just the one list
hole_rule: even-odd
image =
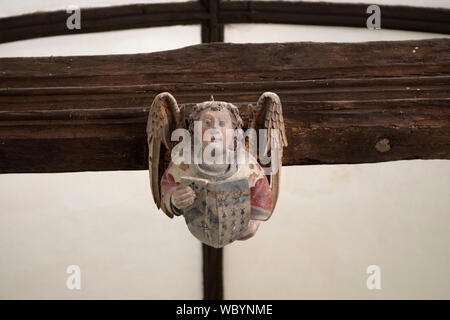
[[(223, 1), (221, 23), (282, 23), (365, 28), (370, 4)], [(381, 28), (450, 33), (450, 10), (409, 6), (379, 5)]]

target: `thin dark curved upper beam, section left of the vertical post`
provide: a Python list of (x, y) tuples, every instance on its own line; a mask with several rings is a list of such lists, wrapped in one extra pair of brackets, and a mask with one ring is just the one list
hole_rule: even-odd
[(198, 1), (81, 8), (81, 29), (69, 30), (66, 10), (0, 19), (0, 43), (80, 33), (200, 24), (209, 13)]

